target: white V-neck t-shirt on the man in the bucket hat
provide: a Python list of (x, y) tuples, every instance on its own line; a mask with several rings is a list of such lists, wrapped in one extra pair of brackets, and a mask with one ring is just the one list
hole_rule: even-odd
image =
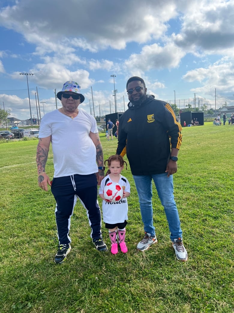
[(39, 138), (51, 136), (54, 177), (98, 172), (96, 147), (89, 136), (90, 131), (98, 133), (95, 118), (80, 108), (74, 120), (59, 110), (43, 116)]

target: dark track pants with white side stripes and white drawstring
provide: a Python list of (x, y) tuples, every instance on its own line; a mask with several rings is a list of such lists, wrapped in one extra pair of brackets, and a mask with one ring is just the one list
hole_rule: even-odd
[(69, 244), (71, 216), (77, 198), (86, 209), (91, 238), (101, 238), (101, 212), (97, 201), (96, 174), (71, 175), (53, 179), (51, 192), (56, 200), (55, 217), (59, 244)]

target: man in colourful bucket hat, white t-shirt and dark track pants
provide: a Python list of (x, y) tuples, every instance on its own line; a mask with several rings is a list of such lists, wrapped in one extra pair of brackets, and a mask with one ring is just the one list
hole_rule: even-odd
[[(77, 199), (86, 209), (95, 248), (107, 251), (107, 246), (102, 240), (101, 212), (97, 201), (97, 185), (105, 176), (97, 123), (92, 115), (78, 109), (85, 97), (75, 81), (67, 81), (57, 97), (62, 107), (45, 114), (41, 119), (37, 172), (39, 187), (48, 191), (47, 185), (50, 185), (56, 200), (59, 245), (54, 262), (61, 264), (71, 251), (70, 224)], [(50, 143), (54, 157), (52, 184), (46, 174)]]

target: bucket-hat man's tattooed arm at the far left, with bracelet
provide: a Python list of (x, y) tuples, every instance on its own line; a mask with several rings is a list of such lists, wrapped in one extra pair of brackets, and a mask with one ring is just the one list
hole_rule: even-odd
[(47, 183), (51, 185), (50, 178), (46, 175), (46, 161), (48, 158), (49, 148), (50, 148), (51, 136), (46, 138), (39, 138), (39, 142), (37, 145), (37, 172), (38, 175), (42, 173), (38, 177), (38, 186), (41, 187), (43, 190), (48, 191)]

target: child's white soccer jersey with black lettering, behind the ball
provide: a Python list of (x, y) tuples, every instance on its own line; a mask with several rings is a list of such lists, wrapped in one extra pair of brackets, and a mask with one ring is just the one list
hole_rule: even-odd
[[(106, 183), (112, 182), (110, 176), (107, 175), (102, 181), (99, 187), (99, 194), (103, 194), (103, 189)], [(125, 192), (130, 192), (130, 184), (126, 177), (122, 176), (119, 179), (119, 185), (123, 187)], [(123, 198), (116, 203), (106, 202), (102, 200), (102, 215), (103, 221), (109, 224), (123, 223), (128, 219), (128, 200)]]

